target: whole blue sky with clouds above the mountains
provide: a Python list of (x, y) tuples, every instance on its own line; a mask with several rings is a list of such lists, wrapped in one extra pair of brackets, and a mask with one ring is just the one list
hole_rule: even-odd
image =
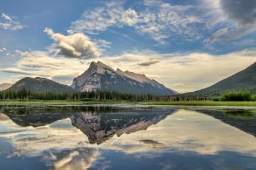
[(183, 93), (256, 61), (253, 0), (1, 0), (0, 16), (0, 83), (70, 85), (102, 61)]

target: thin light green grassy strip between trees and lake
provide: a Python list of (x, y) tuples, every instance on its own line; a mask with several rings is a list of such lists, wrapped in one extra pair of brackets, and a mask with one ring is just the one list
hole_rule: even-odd
[(149, 104), (173, 106), (256, 106), (256, 101), (0, 101), (1, 105), (32, 104)]

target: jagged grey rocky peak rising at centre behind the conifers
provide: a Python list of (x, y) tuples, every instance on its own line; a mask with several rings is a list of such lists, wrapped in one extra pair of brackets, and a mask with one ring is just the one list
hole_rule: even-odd
[(92, 62), (90, 67), (73, 80), (73, 89), (79, 91), (105, 90), (129, 94), (176, 95), (174, 90), (149, 79), (145, 75), (114, 70), (101, 63)]

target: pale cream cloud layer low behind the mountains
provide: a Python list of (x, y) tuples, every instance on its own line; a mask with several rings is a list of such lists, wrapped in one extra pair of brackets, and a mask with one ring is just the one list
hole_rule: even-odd
[[(97, 60), (113, 69), (145, 74), (178, 92), (190, 92), (245, 69), (255, 62), (255, 53), (256, 50), (241, 50), (216, 56), (209, 53), (157, 53), (144, 50), (104, 56)], [(29, 74), (30, 77), (46, 77), (69, 85), (73, 78), (85, 72), (91, 61), (97, 61), (87, 59), (81, 62), (79, 58), (55, 57), (40, 51), (20, 52), (18, 55), (21, 59), (15, 68), (2, 69), (2, 72), (16, 74), (10, 77), (12, 83)]]

